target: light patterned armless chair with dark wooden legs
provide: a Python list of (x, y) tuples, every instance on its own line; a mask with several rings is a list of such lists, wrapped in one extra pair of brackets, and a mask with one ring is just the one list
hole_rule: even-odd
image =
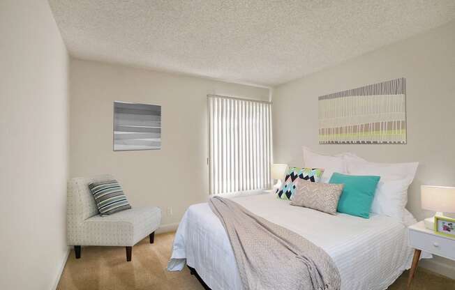
[(111, 175), (77, 177), (68, 181), (67, 238), (75, 247), (76, 259), (80, 258), (82, 245), (126, 247), (126, 260), (131, 260), (133, 245), (154, 234), (161, 223), (161, 209), (155, 206), (133, 207), (101, 217), (89, 183), (115, 179)]

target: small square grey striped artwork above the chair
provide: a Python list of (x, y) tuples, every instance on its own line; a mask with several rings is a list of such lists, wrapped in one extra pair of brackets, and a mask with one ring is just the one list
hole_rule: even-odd
[(114, 102), (114, 151), (161, 149), (161, 106)]

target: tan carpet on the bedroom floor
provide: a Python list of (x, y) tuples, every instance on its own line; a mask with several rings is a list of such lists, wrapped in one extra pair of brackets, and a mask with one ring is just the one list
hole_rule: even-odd
[[(188, 268), (181, 273), (167, 272), (174, 233), (145, 238), (133, 247), (133, 258), (126, 262), (124, 247), (83, 247), (81, 259), (72, 251), (57, 289), (188, 289), (203, 290)], [(403, 273), (389, 290), (406, 289), (408, 273)], [(455, 280), (419, 268), (411, 289), (454, 290)], [(216, 289), (214, 289), (216, 290)]]

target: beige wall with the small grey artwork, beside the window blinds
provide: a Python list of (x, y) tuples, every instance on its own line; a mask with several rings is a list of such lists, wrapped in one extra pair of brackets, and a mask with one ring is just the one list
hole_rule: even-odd
[[(268, 89), (77, 59), (70, 93), (70, 175), (114, 174), (133, 206), (162, 208), (163, 225), (208, 197), (207, 94), (269, 98)], [(161, 150), (112, 151), (114, 100), (162, 106)]]

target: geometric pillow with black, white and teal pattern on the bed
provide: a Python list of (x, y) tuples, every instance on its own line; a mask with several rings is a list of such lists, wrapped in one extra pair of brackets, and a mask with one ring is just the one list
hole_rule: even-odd
[(294, 192), (296, 190), (294, 181), (297, 178), (311, 182), (319, 182), (323, 172), (324, 169), (318, 168), (290, 167), (286, 173), (283, 185), (281, 185), (281, 188), (278, 188), (276, 190), (278, 199), (292, 199), (292, 195), (294, 195)]

